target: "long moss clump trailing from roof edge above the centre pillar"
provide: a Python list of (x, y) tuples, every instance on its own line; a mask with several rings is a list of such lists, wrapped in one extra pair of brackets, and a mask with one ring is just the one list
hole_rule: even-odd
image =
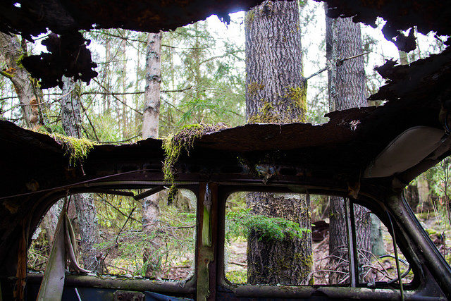
[(194, 140), (203, 135), (216, 132), (228, 128), (224, 123), (217, 123), (216, 125), (193, 124), (186, 125), (178, 133), (169, 135), (163, 139), (163, 150), (165, 154), (163, 164), (164, 180), (172, 183), (169, 190), (168, 202), (171, 202), (175, 197), (177, 190), (174, 183), (174, 166), (180, 156), (180, 153), (185, 150), (190, 155), (190, 149), (194, 145)]

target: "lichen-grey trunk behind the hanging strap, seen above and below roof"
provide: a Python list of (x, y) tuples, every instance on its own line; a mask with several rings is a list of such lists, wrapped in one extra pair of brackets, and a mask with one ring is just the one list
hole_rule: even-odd
[[(61, 97), (61, 123), (68, 136), (81, 137), (80, 93), (79, 87), (71, 78), (63, 78), (63, 97)], [(85, 269), (104, 273), (104, 260), (96, 249), (99, 243), (99, 226), (97, 225), (94, 199), (90, 195), (73, 195), (80, 229), (80, 249)]]

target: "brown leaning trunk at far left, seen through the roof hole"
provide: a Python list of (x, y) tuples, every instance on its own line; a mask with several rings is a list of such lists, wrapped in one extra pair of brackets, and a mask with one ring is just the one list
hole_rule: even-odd
[(25, 125), (27, 128), (35, 128), (39, 123), (39, 104), (42, 102), (42, 92), (33, 86), (32, 78), (20, 64), (20, 60), (27, 56), (26, 51), (22, 49), (18, 37), (2, 32), (0, 32), (0, 49), (0, 54), (8, 66), (8, 69), (1, 71), (1, 74), (8, 77), (13, 83)]

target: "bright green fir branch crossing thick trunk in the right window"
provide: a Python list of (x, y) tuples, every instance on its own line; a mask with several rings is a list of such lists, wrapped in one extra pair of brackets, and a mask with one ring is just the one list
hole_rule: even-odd
[(237, 237), (247, 238), (249, 231), (254, 230), (259, 235), (259, 240), (283, 240), (289, 238), (302, 238), (304, 232), (309, 229), (301, 228), (299, 223), (288, 221), (280, 217), (268, 217), (259, 214), (251, 214), (250, 209), (240, 209), (226, 214), (229, 231), (226, 234), (228, 240)]

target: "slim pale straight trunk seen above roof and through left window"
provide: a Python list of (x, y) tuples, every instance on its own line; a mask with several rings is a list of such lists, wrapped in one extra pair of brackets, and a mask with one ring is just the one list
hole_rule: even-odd
[[(144, 90), (145, 109), (142, 119), (142, 138), (158, 138), (160, 116), (160, 82), (161, 82), (161, 32), (147, 35), (146, 53), (146, 87)], [(156, 237), (160, 226), (159, 194), (156, 193), (142, 200), (142, 230), (152, 239), (144, 250), (146, 277), (161, 276), (161, 242)]]

